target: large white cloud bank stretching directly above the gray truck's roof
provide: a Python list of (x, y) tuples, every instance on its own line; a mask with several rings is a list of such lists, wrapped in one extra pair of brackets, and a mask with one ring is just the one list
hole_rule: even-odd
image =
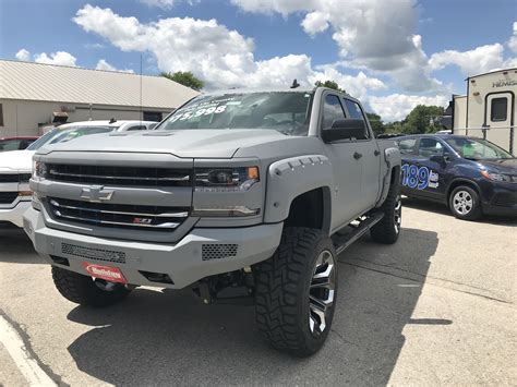
[(141, 23), (136, 17), (120, 16), (110, 9), (86, 4), (73, 21), (121, 50), (149, 50), (163, 71), (192, 71), (208, 88), (290, 85), (293, 78), (301, 84), (312, 84), (323, 76), (338, 77), (340, 81), (336, 81), (342, 87), (361, 95), (369, 87), (384, 87), (381, 80), (362, 72), (351, 76), (335, 69), (332, 73), (328, 69), (314, 70), (311, 58), (305, 55), (256, 61), (253, 40), (215, 20), (169, 17)]

